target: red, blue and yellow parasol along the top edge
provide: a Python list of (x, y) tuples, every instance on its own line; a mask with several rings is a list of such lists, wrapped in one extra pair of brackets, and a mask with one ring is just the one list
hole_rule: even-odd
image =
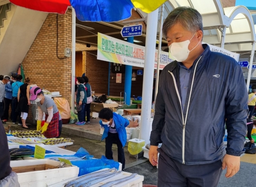
[(131, 17), (131, 10), (139, 8), (145, 13), (156, 10), (167, 0), (10, 0), (27, 9), (65, 14), (68, 7), (75, 9), (81, 21), (113, 22)]

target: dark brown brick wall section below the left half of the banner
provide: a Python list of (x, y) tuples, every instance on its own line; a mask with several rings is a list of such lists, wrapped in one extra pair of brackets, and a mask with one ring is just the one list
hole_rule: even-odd
[(109, 63), (97, 60), (97, 51), (88, 51), (86, 55), (86, 76), (95, 93), (108, 94), (108, 68)]

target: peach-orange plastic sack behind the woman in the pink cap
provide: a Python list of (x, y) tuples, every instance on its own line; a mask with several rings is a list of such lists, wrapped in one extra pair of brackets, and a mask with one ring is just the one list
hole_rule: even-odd
[(64, 97), (55, 97), (54, 103), (59, 109), (59, 113), (62, 119), (70, 118), (70, 106), (68, 101)]

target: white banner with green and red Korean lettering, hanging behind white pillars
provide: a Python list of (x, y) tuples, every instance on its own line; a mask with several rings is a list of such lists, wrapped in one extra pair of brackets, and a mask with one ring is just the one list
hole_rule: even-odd
[[(157, 69), (157, 54), (158, 51), (155, 50), (155, 69)], [(98, 33), (97, 59), (129, 66), (144, 67), (145, 47)], [(174, 60), (169, 58), (167, 52), (161, 51), (160, 70), (163, 70), (172, 61)]]

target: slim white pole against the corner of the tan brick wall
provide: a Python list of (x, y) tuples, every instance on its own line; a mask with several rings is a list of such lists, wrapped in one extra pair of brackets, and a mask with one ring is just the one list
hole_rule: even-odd
[(75, 112), (75, 69), (76, 69), (76, 13), (72, 8), (72, 56), (71, 56), (71, 111)]

